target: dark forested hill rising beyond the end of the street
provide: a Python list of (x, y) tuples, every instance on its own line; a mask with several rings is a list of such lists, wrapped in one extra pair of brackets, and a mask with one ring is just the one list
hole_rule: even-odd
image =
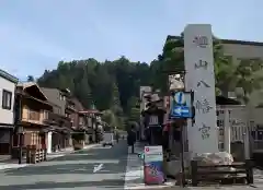
[(44, 87), (69, 87), (85, 108), (95, 105), (104, 110), (106, 120), (117, 126), (125, 116), (138, 117), (139, 86), (153, 81), (152, 66), (130, 62), (125, 57), (114, 61), (98, 62), (95, 59), (71, 62), (60, 61), (56, 70), (45, 71), (38, 79)]

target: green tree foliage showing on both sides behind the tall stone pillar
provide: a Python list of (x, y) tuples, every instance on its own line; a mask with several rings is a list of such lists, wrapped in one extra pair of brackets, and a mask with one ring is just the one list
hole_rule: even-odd
[[(168, 36), (168, 40), (163, 47), (163, 52), (159, 56), (158, 61), (152, 63), (151, 67), (157, 67), (156, 70), (162, 72), (173, 71), (181, 72), (184, 70), (184, 36), (180, 37)], [(235, 92), (237, 87), (243, 90), (241, 99), (247, 103), (249, 96), (255, 90), (261, 88), (262, 76), (256, 72), (262, 69), (262, 60), (241, 60), (235, 61), (232, 57), (224, 55), (224, 47), (220, 39), (214, 37), (214, 66), (216, 79), (216, 93), (228, 96), (228, 92)], [(161, 63), (159, 63), (161, 62)], [(159, 67), (158, 67), (159, 64)], [(165, 73), (167, 75), (167, 73)], [(155, 81), (158, 87), (167, 91), (167, 78), (158, 78)], [(163, 87), (165, 86), (165, 87)]]

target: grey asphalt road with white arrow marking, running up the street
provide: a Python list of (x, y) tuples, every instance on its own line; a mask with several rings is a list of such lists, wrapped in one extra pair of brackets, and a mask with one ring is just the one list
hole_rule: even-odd
[[(127, 145), (96, 146), (36, 165), (0, 171), (0, 190), (123, 190)], [(94, 166), (95, 170), (94, 170)]]

